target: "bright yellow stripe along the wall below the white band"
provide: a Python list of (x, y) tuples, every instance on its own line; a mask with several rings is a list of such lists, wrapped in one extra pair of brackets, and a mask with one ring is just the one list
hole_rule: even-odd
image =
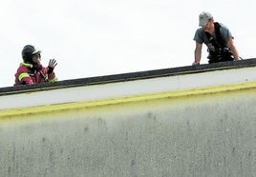
[(56, 112), (56, 111), (65, 111), (72, 110), (77, 108), (94, 108), (100, 106), (110, 106), (110, 105), (120, 105), (127, 104), (133, 102), (143, 102), (150, 100), (158, 100), (158, 99), (169, 99), (169, 98), (181, 98), (185, 97), (187, 99), (189, 96), (200, 96), (205, 94), (213, 94), (227, 91), (245, 91), (255, 89), (256, 91), (256, 82), (253, 83), (245, 83), (238, 85), (228, 85), (228, 86), (219, 86), (219, 87), (211, 87), (204, 89), (188, 89), (181, 91), (168, 91), (168, 92), (158, 92), (152, 94), (143, 94), (143, 95), (133, 95), (129, 97), (118, 97), (113, 99), (104, 99), (104, 100), (95, 100), (95, 101), (84, 101), (84, 102), (73, 102), (73, 103), (63, 103), (63, 104), (55, 104), (55, 105), (45, 105), (40, 107), (32, 107), (32, 108), (12, 108), (6, 110), (0, 110), (0, 119), (17, 117), (21, 115), (29, 115), (38, 113), (47, 113), (47, 112)]

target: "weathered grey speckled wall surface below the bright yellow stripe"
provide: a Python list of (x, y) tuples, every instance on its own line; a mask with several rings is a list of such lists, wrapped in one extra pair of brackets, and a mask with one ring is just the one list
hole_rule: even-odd
[(256, 176), (256, 90), (0, 119), (1, 176)]

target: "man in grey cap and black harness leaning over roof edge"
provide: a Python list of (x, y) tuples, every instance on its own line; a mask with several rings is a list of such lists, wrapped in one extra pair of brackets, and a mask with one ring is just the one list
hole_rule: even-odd
[(221, 23), (214, 22), (209, 12), (199, 15), (199, 28), (196, 30), (194, 41), (196, 41), (195, 61), (192, 65), (199, 65), (202, 57), (203, 44), (207, 46), (208, 63), (239, 60), (240, 56), (234, 44), (231, 32)]

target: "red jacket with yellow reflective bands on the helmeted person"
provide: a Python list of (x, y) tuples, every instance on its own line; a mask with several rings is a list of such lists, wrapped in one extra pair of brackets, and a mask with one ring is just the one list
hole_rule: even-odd
[(14, 86), (32, 85), (44, 82), (53, 83), (57, 81), (54, 72), (48, 73), (49, 68), (45, 68), (41, 64), (38, 64), (38, 68), (41, 69), (33, 69), (32, 64), (21, 63), (16, 73), (14, 74)]

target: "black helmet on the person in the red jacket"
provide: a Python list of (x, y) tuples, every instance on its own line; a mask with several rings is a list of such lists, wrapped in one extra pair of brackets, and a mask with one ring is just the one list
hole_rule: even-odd
[(30, 63), (32, 64), (32, 55), (34, 54), (39, 54), (40, 55), (41, 53), (41, 50), (39, 49), (36, 49), (35, 47), (33, 47), (32, 45), (27, 45), (25, 46), (23, 49), (22, 49), (22, 58), (23, 58), (23, 61), (25, 63)]

